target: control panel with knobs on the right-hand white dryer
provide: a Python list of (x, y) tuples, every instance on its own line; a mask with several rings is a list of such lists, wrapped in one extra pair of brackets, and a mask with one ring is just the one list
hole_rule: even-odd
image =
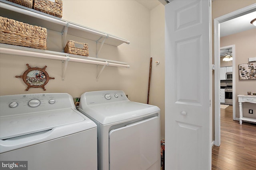
[(86, 101), (87, 105), (129, 101), (122, 90), (85, 92), (84, 94), (82, 94), (81, 98)]

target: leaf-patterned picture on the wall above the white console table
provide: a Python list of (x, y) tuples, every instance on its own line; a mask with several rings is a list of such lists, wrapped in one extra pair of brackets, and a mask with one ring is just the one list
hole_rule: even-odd
[(256, 63), (239, 64), (240, 80), (256, 80)]

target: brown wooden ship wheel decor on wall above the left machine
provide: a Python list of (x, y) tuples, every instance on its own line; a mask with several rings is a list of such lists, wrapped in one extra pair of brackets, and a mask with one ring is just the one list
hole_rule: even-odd
[(30, 67), (28, 64), (28, 70), (26, 70), (22, 76), (15, 76), (16, 78), (22, 78), (24, 83), (28, 85), (28, 88), (26, 88), (26, 91), (28, 91), (29, 88), (44, 88), (44, 86), (48, 83), (50, 79), (54, 79), (54, 77), (50, 77), (49, 74), (45, 71), (47, 66), (44, 66), (44, 68), (38, 68), (38, 67)]

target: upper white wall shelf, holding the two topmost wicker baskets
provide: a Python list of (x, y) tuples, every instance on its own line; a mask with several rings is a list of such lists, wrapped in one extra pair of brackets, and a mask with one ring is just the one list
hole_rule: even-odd
[(2, 17), (22, 21), (31, 25), (45, 27), (47, 29), (58, 32), (64, 32), (65, 27), (67, 27), (67, 34), (90, 39), (93, 41), (98, 41), (101, 37), (108, 37), (104, 43), (116, 47), (122, 43), (130, 44), (130, 41), (120, 37), (79, 25), (77, 23), (72, 23), (70, 21), (66, 21), (61, 18), (45, 14), (43, 12), (26, 8), (6, 0), (0, 0), (0, 14)]

